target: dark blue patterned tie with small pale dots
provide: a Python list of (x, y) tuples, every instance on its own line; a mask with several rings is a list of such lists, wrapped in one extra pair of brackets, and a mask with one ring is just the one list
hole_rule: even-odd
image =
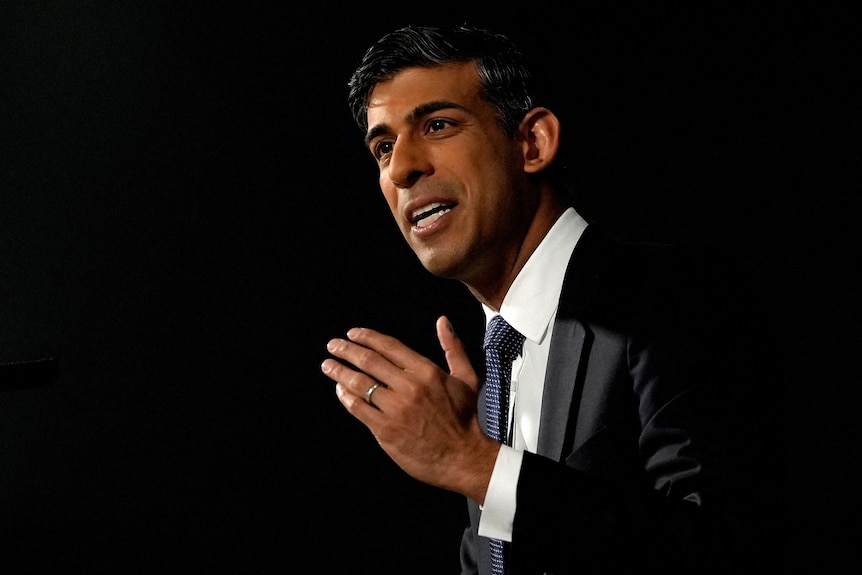
[[(521, 355), (524, 336), (495, 316), (485, 331), (485, 410), (488, 435), (501, 443), (507, 442), (509, 427), (509, 384), (512, 362)], [(491, 568), (494, 575), (503, 574), (503, 542), (491, 539)]]

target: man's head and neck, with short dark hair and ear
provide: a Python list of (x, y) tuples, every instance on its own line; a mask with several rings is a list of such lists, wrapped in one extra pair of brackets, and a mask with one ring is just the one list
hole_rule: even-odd
[(559, 121), (501, 36), (404, 28), (366, 52), (350, 104), (401, 233), (430, 272), (499, 305), (562, 212)]

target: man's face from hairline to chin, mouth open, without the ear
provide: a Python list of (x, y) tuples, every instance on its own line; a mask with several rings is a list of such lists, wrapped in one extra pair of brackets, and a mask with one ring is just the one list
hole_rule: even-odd
[(429, 271), (468, 285), (505, 273), (531, 217), (521, 144), (479, 87), (472, 63), (408, 68), (368, 105), (368, 147), (402, 234)]

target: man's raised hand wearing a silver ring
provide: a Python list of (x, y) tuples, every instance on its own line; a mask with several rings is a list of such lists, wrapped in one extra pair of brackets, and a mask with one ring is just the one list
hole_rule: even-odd
[(482, 503), (500, 445), (479, 427), (479, 379), (445, 316), (437, 320), (437, 338), (448, 372), (398, 339), (368, 328), (330, 340), (327, 350), (343, 361), (328, 358), (321, 370), (336, 382), (347, 411), (371, 430), (399, 467)]

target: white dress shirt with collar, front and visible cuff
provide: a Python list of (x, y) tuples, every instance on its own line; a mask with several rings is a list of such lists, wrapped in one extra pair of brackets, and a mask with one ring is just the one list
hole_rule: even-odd
[[(488, 484), (479, 535), (512, 540), (518, 475), (524, 451), (535, 453), (539, 441), (539, 417), (545, 369), (557, 305), (566, 267), (587, 222), (569, 208), (548, 231), (503, 298), (500, 315), (524, 335), (523, 354), (512, 363), (509, 391), (511, 447), (504, 445)], [(497, 313), (482, 305), (485, 325)]]

